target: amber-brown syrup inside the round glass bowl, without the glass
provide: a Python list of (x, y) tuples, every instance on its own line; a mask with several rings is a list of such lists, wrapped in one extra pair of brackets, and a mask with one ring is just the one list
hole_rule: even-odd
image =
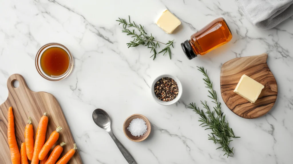
[(50, 47), (42, 53), (40, 66), (50, 77), (62, 76), (69, 69), (69, 55), (60, 47)]

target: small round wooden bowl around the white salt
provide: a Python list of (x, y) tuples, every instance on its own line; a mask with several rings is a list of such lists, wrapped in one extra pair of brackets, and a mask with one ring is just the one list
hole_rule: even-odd
[[(141, 118), (143, 119), (145, 122), (146, 122), (146, 125), (147, 125), (147, 132), (144, 133), (142, 136), (140, 137), (135, 137), (133, 136), (130, 131), (127, 129), (127, 127), (129, 127), (129, 124), (130, 122), (134, 119), (134, 118)], [(144, 116), (144, 115), (140, 115), (140, 114), (134, 114), (134, 115), (131, 115), (129, 116), (128, 118), (126, 118), (126, 120), (124, 121), (123, 123), (123, 132), (125, 134), (125, 136), (130, 139), (131, 141), (134, 141), (134, 142), (140, 142), (140, 141), (143, 141), (145, 140), (148, 136), (149, 136), (149, 133), (151, 132), (151, 123), (149, 122), (149, 120)]]

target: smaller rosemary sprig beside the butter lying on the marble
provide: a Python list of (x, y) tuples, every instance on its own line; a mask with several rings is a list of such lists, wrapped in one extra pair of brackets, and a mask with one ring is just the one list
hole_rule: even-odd
[[(128, 19), (129, 19), (129, 23), (123, 18), (119, 18), (119, 20), (116, 20), (116, 21), (120, 22), (119, 25), (122, 24), (122, 27), (123, 27), (122, 32), (125, 32), (126, 35), (130, 35), (131, 37), (134, 37), (133, 41), (130, 41), (129, 43), (127, 43), (128, 48), (129, 47), (136, 47), (139, 45), (147, 46), (147, 48), (150, 48), (151, 52), (153, 52), (153, 55), (151, 57), (153, 57), (153, 60), (155, 60), (156, 55), (158, 54), (156, 49), (158, 47), (160, 47), (159, 43), (165, 44), (167, 46), (159, 53), (164, 52), (164, 54), (163, 54), (163, 56), (164, 56), (165, 53), (168, 52), (170, 59), (171, 59), (171, 47), (170, 46), (172, 45), (172, 47), (174, 48), (174, 46), (173, 46), (174, 40), (169, 41), (167, 44), (163, 43), (163, 42), (156, 41), (152, 34), (151, 34), (151, 36), (147, 35), (147, 33), (144, 31), (144, 26), (137, 25), (134, 23), (134, 21), (131, 23), (130, 16), (128, 16)], [(129, 30), (128, 27), (136, 28), (140, 34), (136, 34), (134, 29)]]

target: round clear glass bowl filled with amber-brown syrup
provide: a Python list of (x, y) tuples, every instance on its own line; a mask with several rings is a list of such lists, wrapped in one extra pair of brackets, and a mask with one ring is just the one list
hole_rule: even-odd
[(59, 43), (42, 46), (35, 62), (40, 75), (51, 81), (64, 79), (73, 68), (73, 56), (65, 46)]

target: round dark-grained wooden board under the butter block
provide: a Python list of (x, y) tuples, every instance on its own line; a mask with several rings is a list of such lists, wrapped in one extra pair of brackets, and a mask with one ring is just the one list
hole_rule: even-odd
[[(267, 58), (268, 54), (263, 53), (258, 56), (235, 58), (222, 65), (221, 95), (228, 108), (236, 115), (243, 118), (258, 118), (274, 106), (278, 86), (268, 67)], [(233, 92), (243, 74), (265, 86), (255, 103)]]

